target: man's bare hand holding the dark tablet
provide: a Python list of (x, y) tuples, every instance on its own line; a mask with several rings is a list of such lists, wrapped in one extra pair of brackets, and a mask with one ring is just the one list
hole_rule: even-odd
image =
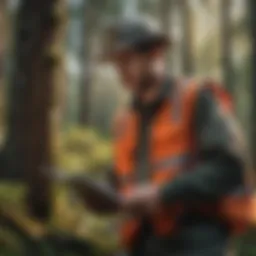
[(152, 185), (145, 185), (125, 196), (121, 208), (126, 213), (145, 215), (154, 212), (158, 206), (158, 189)]

